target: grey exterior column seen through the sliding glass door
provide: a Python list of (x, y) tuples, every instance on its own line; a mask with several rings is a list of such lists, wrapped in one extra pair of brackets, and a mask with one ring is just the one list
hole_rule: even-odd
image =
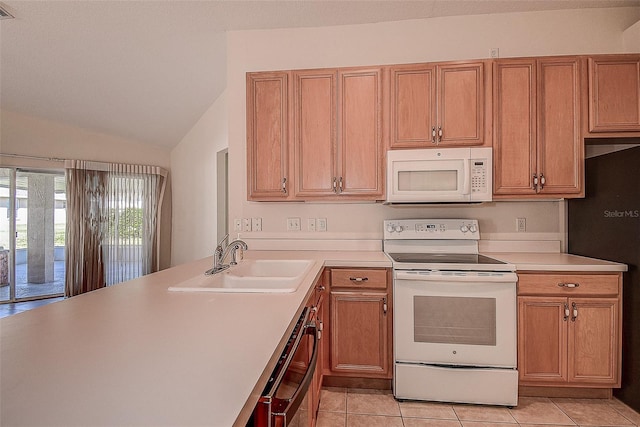
[(27, 282), (54, 280), (54, 176), (29, 174)]

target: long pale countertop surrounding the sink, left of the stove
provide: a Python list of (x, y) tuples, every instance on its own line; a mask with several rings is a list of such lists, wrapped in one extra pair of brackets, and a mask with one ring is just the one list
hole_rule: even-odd
[(382, 253), (247, 251), (313, 259), (296, 292), (169, 292), (211, 258), (0, 319), (2, 426), (243, 426), (323, 266)]

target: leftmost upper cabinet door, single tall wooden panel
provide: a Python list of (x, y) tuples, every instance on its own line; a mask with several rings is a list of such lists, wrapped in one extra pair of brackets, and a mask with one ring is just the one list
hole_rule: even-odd
[(249, 200), (287, 199), (289, 74), (247, 74), (247, 186)]

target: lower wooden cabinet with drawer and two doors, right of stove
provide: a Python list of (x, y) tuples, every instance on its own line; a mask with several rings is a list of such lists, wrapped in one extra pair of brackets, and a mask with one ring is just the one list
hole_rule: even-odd
[(518, 277), (520, 385), (620, 387), (621, 274)]

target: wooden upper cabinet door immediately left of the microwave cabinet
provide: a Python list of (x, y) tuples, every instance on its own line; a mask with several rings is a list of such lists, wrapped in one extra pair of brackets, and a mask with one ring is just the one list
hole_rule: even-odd
[(338, 193), (382, 199), (382, 70), (338, 73)]

